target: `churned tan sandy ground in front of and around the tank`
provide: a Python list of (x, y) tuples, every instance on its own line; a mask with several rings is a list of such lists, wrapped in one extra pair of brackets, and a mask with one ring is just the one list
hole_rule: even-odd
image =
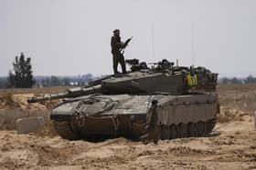
[[(90, 143), (68, 141), (58, 135), (16, 135), (14, 130), (2, 130), (0, 169), (256, 169), (252, 106), (244, 105), (252, 105), (247, 98), (256, 88), (244, 88), (248, 89), (219, 87), (221, 114), (214, 132), (206, 137), (144, 145), (125, 138)], [(240, 95), (241, 99), (234, 102), (230, 94), (237, 98)], [(11, 103), (19, 111), (48, 111), (50, 105), (27, 106), (23, 103), (27, 96), (13, 95)], [(10, 109), (3, 98), (1, 104), (0, 110)]]

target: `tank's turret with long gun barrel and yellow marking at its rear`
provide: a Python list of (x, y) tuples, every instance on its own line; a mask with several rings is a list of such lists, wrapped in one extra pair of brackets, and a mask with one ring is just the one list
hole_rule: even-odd
[(211, 73), (202, 66), (186, 67), (174, 65), (166, 59), (151, 63), (151, 68), (138, 59), (126, 60), (131, 72), (125, 75), (109, 75), (91, 82), (89, 86), (70, 88), (56, 95), (35, 96), (28, 103), (59, 98), (73, 98), (91, 94), (169, 94), (185, 95), (190, 92), (214, 92), (218, 74)]

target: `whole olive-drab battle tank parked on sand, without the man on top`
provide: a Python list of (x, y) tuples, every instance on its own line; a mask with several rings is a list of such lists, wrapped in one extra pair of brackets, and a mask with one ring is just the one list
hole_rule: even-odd
[(157, 101), (161, 139), (207, 135), (216, 124), (218, 74), (205, 67), (126, 60), (131, 71), (109, 75), (56, 95), (35, 96), (28, 103), (63, 98), (50, 114), (60, 136), (69, 140), (97, 136), (144, 135), (146, 115)]

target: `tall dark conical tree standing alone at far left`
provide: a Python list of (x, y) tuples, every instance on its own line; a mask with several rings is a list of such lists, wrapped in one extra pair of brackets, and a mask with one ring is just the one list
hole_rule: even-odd
[(16, 56), (13, 62), (14, 73), (9, 72), (8, 75), (8, 86), (10, 87), (22, 87), (29, 88), (35, 84), (32, 75), (31, 58), (25, 57), (23, 53), (18, 57)]

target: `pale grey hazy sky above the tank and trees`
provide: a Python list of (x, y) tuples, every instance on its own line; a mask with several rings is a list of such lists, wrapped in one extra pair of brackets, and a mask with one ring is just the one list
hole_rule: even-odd
[(0, 0), (0, 75), (21, 52), (34, 75), (112, 74), (116, 28), (133, 36), (125, 58), (256, 75), (255, 9), (254, 0)]

